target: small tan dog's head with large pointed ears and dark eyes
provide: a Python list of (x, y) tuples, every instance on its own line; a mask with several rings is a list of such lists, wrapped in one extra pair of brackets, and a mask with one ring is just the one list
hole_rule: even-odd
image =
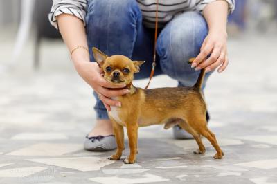
[(105, 80), (114, 84), (130, 84), (134, 79), (134, 73), (138, 73), (140, 66), (144, 63), (132, 61), (124, 55), (108, 57), (95, 47), (92, 51), (94, 59), (104, 71)]

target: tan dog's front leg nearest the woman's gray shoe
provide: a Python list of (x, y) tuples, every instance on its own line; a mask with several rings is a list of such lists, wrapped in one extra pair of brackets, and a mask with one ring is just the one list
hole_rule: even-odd
[(119, 160), (124, 150), (124, 130), (123, 127), (114, 120), (111, 120), (111, 122), (113, 123), (114, 136), (116, 136), (117, 149), (116, 154), (111, 155), (109, 160)]

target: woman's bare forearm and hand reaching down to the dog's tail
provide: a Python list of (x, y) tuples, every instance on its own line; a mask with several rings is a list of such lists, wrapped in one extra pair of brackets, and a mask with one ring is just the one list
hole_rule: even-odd
[[(204, 39), (199, 55), (192, 64), (196, 70), (206, 68), (206, 72), (208, 72), (220, 66), (217, 70), (220, 73), (228, 65), (228, 36), (226, 33), (228, 8), (228, 3), (222, 0), (213, 1), (205, 6), (203, 15), (208, 24), (208, 35)], [(210, 54), (211, 56), (208, 57)]]

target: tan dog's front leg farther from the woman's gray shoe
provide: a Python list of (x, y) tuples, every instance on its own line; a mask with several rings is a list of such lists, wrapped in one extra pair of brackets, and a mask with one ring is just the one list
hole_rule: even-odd
[(137, 122), (127, 123), (127, 134), (129, 139), (129, 157), (124, 160), (124, 163), (135, 163), (137, 154), (137, 143), (138, 143), (138, 129), (139, 125)]

